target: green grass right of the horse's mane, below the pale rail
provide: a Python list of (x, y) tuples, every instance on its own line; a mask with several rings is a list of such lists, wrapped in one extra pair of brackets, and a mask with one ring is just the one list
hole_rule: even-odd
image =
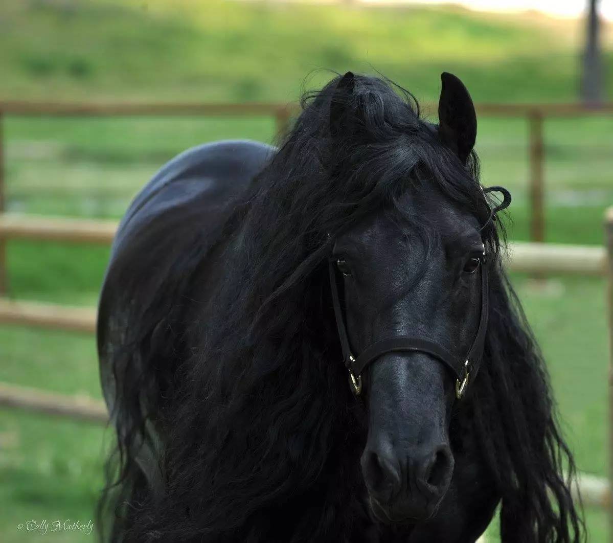
[[(514, 276), (552, 380), (562, 429), (580, 471), (607, 476), (607, 328), (602, 279)], [(587, 509), (588, 541), (607, 541), (604, 511)], [(488, 541), (498, 541), (495, 523)]]

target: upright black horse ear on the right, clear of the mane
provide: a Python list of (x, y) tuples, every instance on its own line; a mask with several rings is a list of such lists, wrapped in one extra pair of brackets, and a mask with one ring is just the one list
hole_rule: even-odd
[(466, 162), (477, 137), (477, 115), (473, 101), (459, 78), (441, 74), (443, 89), (438, 101), (438, 132), (443, 142)]

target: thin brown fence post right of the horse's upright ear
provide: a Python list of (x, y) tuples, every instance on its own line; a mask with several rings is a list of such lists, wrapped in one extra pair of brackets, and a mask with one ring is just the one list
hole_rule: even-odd
[(530, 120), (530, 241), (545, 241), (543, 112), (533, 109)]

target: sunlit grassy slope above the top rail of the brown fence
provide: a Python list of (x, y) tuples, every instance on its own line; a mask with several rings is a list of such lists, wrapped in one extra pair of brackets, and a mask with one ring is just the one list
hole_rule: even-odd
[[(573, 101), (570, 23), (440, 7), (208, 0), (0, 6), (0, 96), (288, 101), (313, 70), (372, 67), (435, 99), (443, 70), (477, 101)], [(613, 56), (606, 56), (609, 69)], [(313, 74), (319, 86), (327, 74)], [(609, 81), (609, 96), (611, 96)]]

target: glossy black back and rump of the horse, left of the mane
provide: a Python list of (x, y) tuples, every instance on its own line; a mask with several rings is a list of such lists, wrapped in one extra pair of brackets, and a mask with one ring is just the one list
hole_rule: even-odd
[(165, 386), (160, 379), (177, 354), (190, 279), (274, 151), (247, 141), (197, 146), (164, 165), (132, 201), (98, 308), (101, 382), (112, 414), (125, 408), (115, 405), (118, 383), (137, 395)]

